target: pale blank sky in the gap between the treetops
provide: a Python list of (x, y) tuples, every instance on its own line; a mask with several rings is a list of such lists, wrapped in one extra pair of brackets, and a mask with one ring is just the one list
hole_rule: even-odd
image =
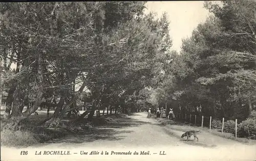
[(182, 39), (190, 37), (197, 25), (209, 16), (203, 4), (204, 1), (153, 1), (146, 3), (145, 13), (156, 12), (160, 17), (163, 12), (167, 12), (169, 34), (173, 39), (172, 48), (179, 52)]

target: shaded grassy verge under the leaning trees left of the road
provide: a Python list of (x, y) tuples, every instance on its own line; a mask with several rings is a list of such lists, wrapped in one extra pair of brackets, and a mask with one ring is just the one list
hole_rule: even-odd
[[(63, 118), (60, 126), (58, 127), (50, 128), (47, 126), (35, 126), (47, 116), (46, 111), (38, 111), (38, 114), (39, 115), (31, 115), (27, 119), (23, 120), (18, 130), (1, 128), (1, 146), (27, 147), (64, 137), (68, 134), (76, 133), (81, 130), (87, 130), (91, 127), (85, 119), (80, 122), (76, 122), (75, 120), (67, 118)], [(50, 112), (50, 115), (52, 114), (53, 111)], [(100, 126), (105, 124), (107, 121), (122, 117), (124, 117), (123, 114), (104, 115), (104, 117), (101, 116), (100, 118), (94, 117), (91, 124), (94, 126)], [(4, 123), (3, 120), (1, 120), (1, 124), (2, 123)]]

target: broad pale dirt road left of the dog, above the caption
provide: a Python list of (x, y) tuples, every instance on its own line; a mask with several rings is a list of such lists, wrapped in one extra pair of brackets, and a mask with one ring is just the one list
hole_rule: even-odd
[(115, 119), (106, 126), (94, 127), (80, 135), (56, 139), (43, 147), (70, 146), (72, 144), (76, 144), (75, 147), (116, 146), (120, 148), (184, 145), (179, 142), (179, 139), (170, 137), (155, 119), (146, 118), (145, 113)]

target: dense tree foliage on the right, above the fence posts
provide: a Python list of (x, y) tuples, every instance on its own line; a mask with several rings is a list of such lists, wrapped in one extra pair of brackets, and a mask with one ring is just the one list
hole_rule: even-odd
[(204, 116), (245, 120), (256, 105), (255, 7), (255, 1), (205, 2), (211, 15), (183, 40), (180, 55), (172, 55), (154, 98), (176, 100), (189, 112), (201, 105)]

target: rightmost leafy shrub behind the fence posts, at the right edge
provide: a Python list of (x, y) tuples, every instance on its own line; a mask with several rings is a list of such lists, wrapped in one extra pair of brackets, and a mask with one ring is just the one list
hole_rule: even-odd
[(256, 119), (248, 118), (238, 124), (238, 136), (256, 139)]

